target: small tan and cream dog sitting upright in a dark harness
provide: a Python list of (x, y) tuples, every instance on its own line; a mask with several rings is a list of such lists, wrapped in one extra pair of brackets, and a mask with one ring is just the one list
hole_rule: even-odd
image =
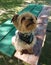
[(37, 18), (30, 12), (24, 12), (20, 15), (16, 14), (12, 18), (12, 22), (17, 29), (15, 35), (15, 49), (23, 53), (33, 54), (33, 46), (36, 44), (36, 22)]

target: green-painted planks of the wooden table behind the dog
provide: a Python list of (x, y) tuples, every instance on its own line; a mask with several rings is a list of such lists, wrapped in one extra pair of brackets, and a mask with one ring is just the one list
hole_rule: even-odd
[[(37, 9), (39, 8), (39, 9)], [(37, 9), (37, 10), (36, 10)], [(38, 16), (39, 12), (41, 11), (42, 6), (30, 4), (29, 6), (25, 7), (21, 12), (18, 14), (22, 14), (23, 12), (30, 11), (32, 13), (36, 13), (36, 16)], [(35, 11), (34, 11), (35, 10)], [(15, 52), (15, 48), (12, 46), (12, 36), (15, 34), (15, 28), (13, 24), (11, 23), (11, 19), (7, 20), (3, 24), (0, 25), (0, 52), (12, 56)]]

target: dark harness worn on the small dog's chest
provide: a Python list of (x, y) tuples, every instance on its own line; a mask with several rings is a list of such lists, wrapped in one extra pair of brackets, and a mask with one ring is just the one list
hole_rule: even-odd
[(30, 33), (20, 33), (18, 32), (18, 35), (19, 35), (19, 39), (26, 42), (27, 44), (31, 44), (31, 42), (33, 41), (33, 34)]

